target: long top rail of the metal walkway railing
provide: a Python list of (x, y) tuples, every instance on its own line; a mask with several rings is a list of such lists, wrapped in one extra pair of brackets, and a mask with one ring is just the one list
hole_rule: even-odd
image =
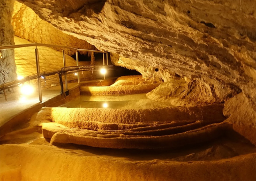
[(73, 48), (73, 47), (67, 47), (67, 46), (62, 46), (62, 45), (50, 45), (50, 44), (44, 44), (44, 43), (28, 43), (28, 44), (18, 44), (18, 45), (3, 45), (3, 46), (0, 46), (0, 50), (9, 50), (9, 49), (14, 49), (14, 48), (33, 47), (33, 46), (67, 48), (67, 49), (72, 49), (72, 50), (76, 50), (76, 51), (88, 51), (88, 52), (106, 53), (105, 51), (99, 51), (99, 50), (87, 50), (87, 49), (81, 49), (81, 48)]

